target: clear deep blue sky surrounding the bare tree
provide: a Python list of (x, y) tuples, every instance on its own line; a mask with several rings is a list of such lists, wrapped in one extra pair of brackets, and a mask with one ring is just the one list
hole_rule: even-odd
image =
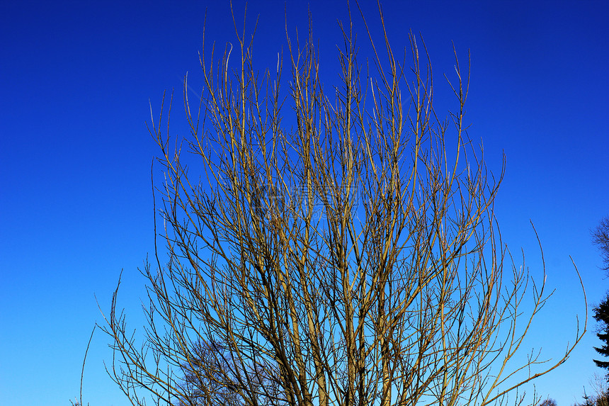
[[(375, 2), (362, 1), (376, 21)], [(288, 26), (307, 29), (305, 1), (249, 2), (259, 16), (258, 61), (273, 67)], [(336, 67), (337, 18), (346, 1), (309, 2), (323, 64)], [(155, 145), (144, 122), (164, 89), (196, 83), (207, 9), (208, 39), (234, 41), (224, 1), (12, 1), (0, 4), (0, 398), (3, 405), (69, 405), (96, 298), (109, 309), (121, 269), (120, 305), (142, 327), (144, 278), (153, 251), (150, 163)], [(242, 16), (244, 2), (234, 1)], [(385, 1), (395, 47), (421, 33), (448, 92), (453, 42), (472, 52), (469, 136), (482, 138), (491, 169), (507, 159), (496, 201), (505, 241), (523, 248), (530, 271), (544, 247), (556, 289), (530, 344), (560, 356), (588, 303), (609, 288), (590, 230), (609, 215), (609, 9), (603, 1)], [(355, 21), (358, 21), (355, 16)], [(359, 24), (359, 23), (358, 23)], [(360, 33), (360, 41), (365, 40)], [(322, 65), (323, 66), (323, 65)], [(590, 307), (590, 306), (588, 306)], [(581, 400), (593, 373), (588, 334), (561, 368), (537, 381), (559, 406)], [(108, 338), (96, 332), (84, 375), (91, 406), (126, 405), (104, 371)]]

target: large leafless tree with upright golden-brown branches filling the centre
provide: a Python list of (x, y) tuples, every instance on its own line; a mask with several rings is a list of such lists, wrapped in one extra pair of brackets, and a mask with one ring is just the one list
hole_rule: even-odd
[(368, 30), (363, 64), (351, 21), (341, 26), (331, 91), (310, 30), (302, 46), (288, 35), (285, 91), (283, 55), (256, 72), (254, 36), (235, 27), (237, 46), (218, 59), (212, 49), (212, 62), (200, 54), (196, 106), (184, 81), (190, 135), (169, 137), (165, 104), (152, 118), (165, 249), (144, 268), (142, 346), (113, 296), (110, 375), (134, 405), (147, 393), (207, 406), (225, 395), (247, 406), (487, 405), (512, 391), (521, 402), (522, 385), (563, 363), (585, 326), (557, 360), (516, 356), (547, 300), (545, 269), (535, 283), (501, 241), (503, 170), (490, 174), (465, 134), (469, 73), (456, 52), (455, 110), (442, 119), (412, 35), (406, 64), (384, 23), (380, 45)]

